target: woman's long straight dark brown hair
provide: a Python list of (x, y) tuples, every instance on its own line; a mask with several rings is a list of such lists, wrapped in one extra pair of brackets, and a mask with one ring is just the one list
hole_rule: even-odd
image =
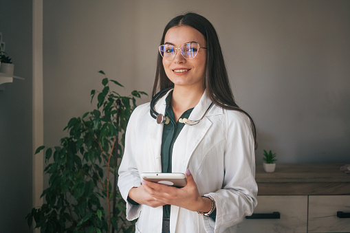
[[(212, 100), (212, 102), (214, 102), (215, 105), (223, 109), (240, 111), (242, 113), (245, 113), (245, 115), (248, 115), (248, 118), (252, 123), (252, 133), (254, 136), (256, 148), (256, 127), (254, 121), (250, 117), (250, 115), (246, 111), (241, 109), (234, 101), (234, 97), (230, 87), (230, 82), (228, 80), (228, 73), (226, 70), (225, 61), (223, 60), (223, 55), (221, 52), (219, 38), (217, 36), (215, 28), (208, 21), (208, 19), (204, 18), (204, 16), (193, 12), (188, 12), (186, 14), (176, 16), (164, 28), (160, 45), (164, 44), (166, 32), (168, 32), (168, 30), (171, 27), (181, 25), (188, 25), (190, 27), (195, 28), (196, 30), (201, 32), (201, 34), (203, 34), (204, 38), (206, 39), (207, 57), (206, 76), (204, 85), (210, 100)], [(155, 94), (158, 91), (173, 86), (173, 82), (171, 82), (171, 80), (169, 80), (166, 76), (162, 63), (162, 56), (160, 55), (160, 53), (158, 53), (157, 70), (155, 73), (152, 97), (155, 96)]]

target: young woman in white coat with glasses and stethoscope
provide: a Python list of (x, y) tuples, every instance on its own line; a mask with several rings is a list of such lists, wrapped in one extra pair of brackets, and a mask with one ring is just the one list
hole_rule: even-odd
[[(131, 115), (119, 169), (127, 219), (143, 233), (236, 232), (257, 203), (256, 134), (234, 102), (217, 33), (199, 14), (180, 15), (159, 50), (153, 99)], [(142, 173), (185, 173), (187, 185)]]

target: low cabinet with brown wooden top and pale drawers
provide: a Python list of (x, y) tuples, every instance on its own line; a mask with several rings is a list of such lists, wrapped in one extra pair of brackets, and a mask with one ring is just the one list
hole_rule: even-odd
[(350, 232), (350, 175), (342, 165), (277, 164), (275, 173), (256, 166), (258, 206), (237, 232)]

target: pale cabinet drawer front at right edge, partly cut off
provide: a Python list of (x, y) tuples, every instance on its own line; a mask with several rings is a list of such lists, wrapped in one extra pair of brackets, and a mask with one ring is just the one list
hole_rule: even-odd
[(350, 196), (309, 196), (309, 232), (350, 232)]

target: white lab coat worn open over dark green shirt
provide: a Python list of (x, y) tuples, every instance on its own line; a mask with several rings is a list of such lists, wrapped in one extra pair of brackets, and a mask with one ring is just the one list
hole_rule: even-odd
[[(155, 105), (158, 113), (165, 113), (166, 96)], [(204, 92), (189, 119), (200, 119), (210, 103)], [(125, 200), (131, 188), (141, 185), (141, 173), (162, 172), (163, 125), (151, 117), (149, 106), (147, 103), (137, 107), (127, 127), (118, 179)], [(217, 216), (214, 221), (171, 206), (171, 232), (236, 232), (237, 223), (252, 214), (257, 203), (254, 157), (250, 120), (243, 113), (213, 106), (199, 124), (185, 125), (173, 147), (173, 173), (185, 173), (189, 168), (199, 194), (215, 199)], [(134, 206), (127, 201), (127, 219), (138, 219), (136, 232), (162, 232), (162, 213), (162, 206)]]

